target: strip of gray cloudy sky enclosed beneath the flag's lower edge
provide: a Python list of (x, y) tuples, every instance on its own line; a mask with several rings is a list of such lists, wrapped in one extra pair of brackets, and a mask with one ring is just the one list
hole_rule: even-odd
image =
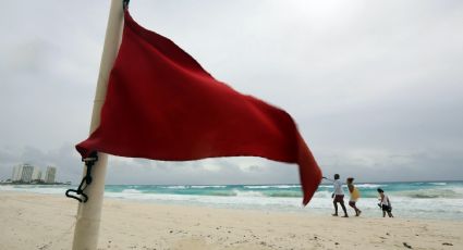
[(112, 161), (108, 183), (117, 184), (285, 184), (296, 183), (295, 165), (231, 158), (191, 162)]

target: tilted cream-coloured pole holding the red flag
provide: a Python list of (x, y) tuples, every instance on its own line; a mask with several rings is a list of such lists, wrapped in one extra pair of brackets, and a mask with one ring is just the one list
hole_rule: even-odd
[[(123, 1), (111, 0), (105, 46), (98, 74), (94, 109), (92, 113), (90, 134), (100, 124), (101, 107), (105, 102), (109, 74), (118, 55), (121, 43), (123, 24)], [(87, 202), (81, 202), (77, 209), (74, 229), (73, 250), (97, 249), (98, 233), (101, 217), (101, 205), (105, 192), (105, 176), (108, 163), (106, 153), (98, 153), (98, 161), (92, 170), (93, 182), (85, 189)], [(86, 170), (84, 170), (85, 176)]]

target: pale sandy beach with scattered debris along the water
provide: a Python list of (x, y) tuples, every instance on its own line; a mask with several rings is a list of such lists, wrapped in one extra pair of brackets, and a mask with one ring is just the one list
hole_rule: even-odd
[[(71, 249), (76, 208), (65, 197), (0, 192), (0, 249)], [(463, 221), (342, 218), (330, 212), (106, 199), (98, 249), (463, 249)]]

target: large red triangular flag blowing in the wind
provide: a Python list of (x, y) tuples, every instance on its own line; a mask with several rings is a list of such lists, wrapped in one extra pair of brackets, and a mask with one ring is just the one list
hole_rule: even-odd
[(93, 151), (163, 161), (248, 155), (297, 163), (304, 204), (321, 180), (287, 112), (215, 79), (129, 11), (100, 125), (76, 149), (82, 157)]

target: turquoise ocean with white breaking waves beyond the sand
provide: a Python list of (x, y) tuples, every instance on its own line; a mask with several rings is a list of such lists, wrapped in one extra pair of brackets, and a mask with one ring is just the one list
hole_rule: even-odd
[[(363, 183), (357, 207), (362, 216), (382, 216), (377, 188), (392, 203), (395, 217), (463, 221), (463, 182)], [(75, 186), (2, 185), (1, 190), (62, 195)], [(344, 185), (345, 193), (349, 193)], [(105, 197), (179, 205), (249, 209), (265, 212), (331, 214), (332, 186), (321, 184), (307, 207), (302, 207), (301, 186), (288, 185), (107, 185)], [(92, 199), (92, 197), (90, 197)], [(348, 203), (349, 195), (344, 199)], [(348, 205), (346, 205), (348, 207)], [(350, 215), (354, 211), (348, 207)]]

